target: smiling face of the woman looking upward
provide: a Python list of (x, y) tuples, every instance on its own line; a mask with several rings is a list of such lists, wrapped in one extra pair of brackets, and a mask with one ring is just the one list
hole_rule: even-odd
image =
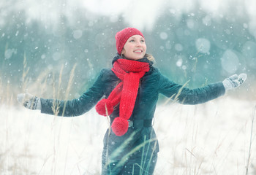
[(144, 57), (146, 49), (147, 47), (143, 36), (133, 35), (129, 37), (127, 42), (124, 44), (124, 49), (121, 54), (123, 54), (127, 59), (138, 60)]

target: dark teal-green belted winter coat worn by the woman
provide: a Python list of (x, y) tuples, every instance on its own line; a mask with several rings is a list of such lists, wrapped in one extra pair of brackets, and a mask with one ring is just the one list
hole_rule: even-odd
[[(41, 98), (41, 112), (53, 114), (53, 101), (56, 101), (60, 103), (59, 115), (72, 117), (84, 114), (94, 107), (102, 97), (108, 97), (117, 85), (118, 80), (118, 77), (116, 77), (111, 69), (102, 69), (94, 85), (78, 99), (72, 101), (56, 101)], [(203, 88), (190, 90), (170, 81), (157, 68), (151, 66), (150, 71), (146, 72), (140, 79), (140, 88), (130, 120), (153, 118), (159, 93), (167, 96), (167, 98), (172, 97), (182, 104), (200, 104), (222, 96), (225, 93), (225, 88), (222, 82), (218, 82), (206, 85)], [(64, 106), (66, 106), (65, 109)], [(110, 117), (118, 117), (118, 107)], [(130, 136), (132, 136), (132, 139), (124, 144), (124, 141), (127, 141)], [(145, 141), (149, 141), (150, 144), (143, 144)], [(121, 148), (118, 154), (111, 157), (110, 155), (116, 151), (116, 148), (121, 147), (122, 144), (124, 147)], [(108, 159), (118, 163), (119, 160), (125, 158), (127, 153), (132, 150), (135, 151), (135, 149), (138, 149), (139, 152), (144, 152), (144, 154), (146, 151), (148, 155), (155, 154), (159, 151), (157, 136), (153, 128), (129, 128), (124, 136), (116, 136), (112, 131), (107, 131), (104, 138), (102, 154), (103, 165), (105, 165)]]

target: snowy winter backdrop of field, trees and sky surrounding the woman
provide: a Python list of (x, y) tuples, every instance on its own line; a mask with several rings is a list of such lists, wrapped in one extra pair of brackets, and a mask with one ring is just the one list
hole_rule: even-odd
[(196, 106), (159, 96), (155, 174), (256, 174), (256, 1), (0, 1), (0, 173), (100, 174), (108, 119), (54, 117), (18, 93), (78, 98), (111, 67), (114, 36), (140, 29), (162, 74), (198, 88), (247, 80)]

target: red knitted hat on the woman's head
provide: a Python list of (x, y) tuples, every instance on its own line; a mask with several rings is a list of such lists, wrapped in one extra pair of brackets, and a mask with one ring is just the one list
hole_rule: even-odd
[(116, 33), (116, 50), (119, 54), (121, 54), (121, 50), (123, 50), (124, 44), (127, 42), (127, 39), (129, 39), (129, 37), (133, 35), (143, 36), (143, 34), (136, 28), (124, 28), (123, 30)]

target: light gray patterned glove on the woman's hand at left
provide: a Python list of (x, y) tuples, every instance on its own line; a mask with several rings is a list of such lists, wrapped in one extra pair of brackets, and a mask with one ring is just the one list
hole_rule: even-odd
[(20, 93), (17, 96), (17, 101), (23, 104), (27, 109), (39, 109), (41, 110), (41, 101), (37, 96), (33, 96), (29, 93)]

